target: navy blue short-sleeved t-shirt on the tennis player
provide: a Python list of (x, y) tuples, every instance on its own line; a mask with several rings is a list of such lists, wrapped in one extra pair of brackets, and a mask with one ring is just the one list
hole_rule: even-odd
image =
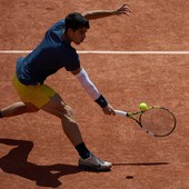
[(79, 56), (68, 41), (62, 39), (64, 20), (53, 24), (41, 43), (27, 57), (19, 58), (17, 76), (23, 84), (43, 83), (46, 78), (61, 68), (67, 71), (80, 67)]

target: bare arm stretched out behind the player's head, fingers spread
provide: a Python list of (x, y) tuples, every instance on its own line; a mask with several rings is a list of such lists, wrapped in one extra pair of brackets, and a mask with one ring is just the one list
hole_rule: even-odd
[(94, 19), (100, 19), (110, 16), (120, 16), (120, 14), (129, 16), (130, 12), (131, 10), (129, 8), (129, 4), (125, 3), (115, 10), (93, 10), (93, 11), (88, 11), (82, 13), (82, 16), (88, 20), (94, 20)]

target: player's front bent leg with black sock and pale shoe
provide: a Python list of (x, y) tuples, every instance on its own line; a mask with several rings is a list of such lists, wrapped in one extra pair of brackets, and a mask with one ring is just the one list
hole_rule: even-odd
[(41, 109), (61, 119), (64, 133), (80, 155), (79, 166), (99, 171), (109, 170), (111, 168), (112, 165), (110, 162), (100, 160), (87, 149), (71, 108), (58, 93)]

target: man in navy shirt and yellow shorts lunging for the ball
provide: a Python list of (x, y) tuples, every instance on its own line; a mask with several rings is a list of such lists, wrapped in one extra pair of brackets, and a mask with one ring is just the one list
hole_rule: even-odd
[(80, 156), (79, 166), (94, 170), (110, 169), (110, 162), (98, 159), (88, 150), (71, 108), (52, 88), (44, 84), (44, 80), (59, 69), (64, 68), (76, 76), (86, 92), (101, 107), (106, 115), (115, 115), (111, 105), (99, 92), (84, 68), (81, 67), (79, 56), (71, 47), (71, 42), (76, 44), (83, 42), (89, 29), (89, 20), (128, 14), (129, 12), (128, 4), (116, 10), (97, 10), (83, 14), (74, 12), (53, 24), (46, 32), (41, 43), (30, 54), (18, 59), (13, 86), (21, 101), (1, 109), (0, 117), (12, 117), (38, 110), (54, 115), (61, 119), (64, 133)]

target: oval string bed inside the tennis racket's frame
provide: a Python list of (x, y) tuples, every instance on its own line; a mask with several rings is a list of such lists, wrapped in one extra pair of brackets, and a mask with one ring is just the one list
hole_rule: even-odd
[(155, 136), (167, 136), (173, 131), (176, 120), (167, 109), (150, 109), (140, 117), (141, 126)]

